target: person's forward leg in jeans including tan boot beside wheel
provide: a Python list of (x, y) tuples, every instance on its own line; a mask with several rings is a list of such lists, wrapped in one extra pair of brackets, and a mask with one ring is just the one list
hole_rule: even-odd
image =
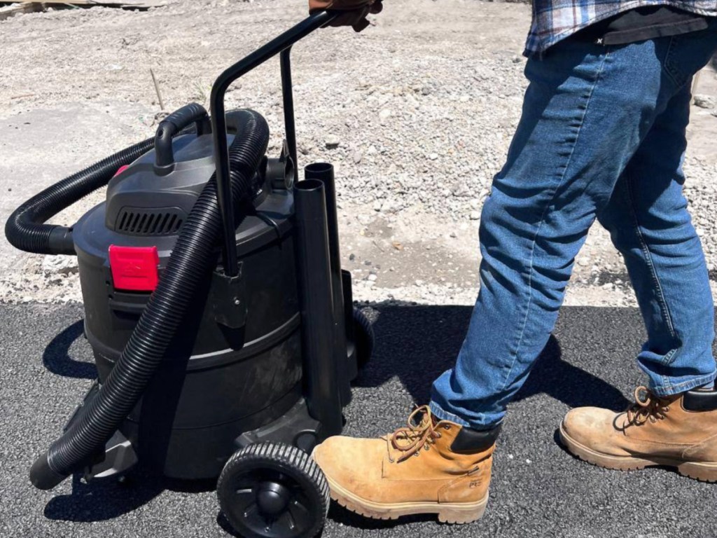
[(546, 343), (588, 228), (676, 91), (671, 44), (569, 40), (528, 62), (521, 126), (483, 211), (482, 288), (458, 364), (408, 427), (315, 449), (333, 499), (381, 519), (483, 515), (491, 426)]

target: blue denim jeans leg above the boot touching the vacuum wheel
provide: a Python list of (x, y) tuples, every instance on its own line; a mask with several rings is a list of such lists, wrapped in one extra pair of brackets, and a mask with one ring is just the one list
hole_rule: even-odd
[(475, 429), (503, 419), (554, 328), (589, 227), (678, 78), (708, 60), (709, 39), (689, 51), (680, 39), (615, 49), (569, 40), (528, 61), (523, 118), (483, 208), (480, 295), (455, 368), (433, 386), (437, 417)]

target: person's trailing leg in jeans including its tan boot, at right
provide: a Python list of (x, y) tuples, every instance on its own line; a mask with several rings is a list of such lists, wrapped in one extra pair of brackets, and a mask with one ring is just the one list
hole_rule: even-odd
[(561, 442), (599, 466), (673, 466), (717, 481), (717, 391), (705, 390), (716, 374), (714, 306), (682, 192), (690, 79), (717, 49), (716, 30), (713, 22), (711, 32), (673, 39), (665, 72), (675, 95), (599, 214), (625, 257), (645, 319), (647, 343), (638, 362), (649, 378), (626, 412), (580, 407), (564, 417)]

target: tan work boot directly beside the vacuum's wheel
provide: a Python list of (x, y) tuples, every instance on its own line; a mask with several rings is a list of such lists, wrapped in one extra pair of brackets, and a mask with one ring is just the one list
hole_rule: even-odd
[(313, 457), (338, 504), (366, 517), (397, 519), (438, 514), (440, 522), (470, 523), (488, 504), (490, 468), (500, 428), (481, 432), (419, 407), (379, 439), (333, 437)]

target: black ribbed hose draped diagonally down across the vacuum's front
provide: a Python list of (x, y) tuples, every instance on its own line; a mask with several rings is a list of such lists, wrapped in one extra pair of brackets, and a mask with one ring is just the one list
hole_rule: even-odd
[[(252, 110), (227, 114), (227, 125), (237, 133), (229, 147), (229, 162), (232, 202), (238, 208), (240, 202), (254, 194), (252, 179), (266, 153), (269, 128), (265, 119)], [(105, 164), (100, 164), (99, 169), (105, 170), (120, 161), (105, 159), (102, 162)], [(100, 172), (94, 174), (99, 176)], [(89, 183), (89, 180), (85, 179), (85, 182)], [(60, 204), (57, 200), (63, 195), (68, 196), (64, 193), (71, 188), (69, 185), (57, 194), (52, 204), (48, 202), (42, 207)], [(74, 188), (79, 190), (79, 187)], [(34, 209), (33, 215), (38, 212), (39, 209)], [(237, 221), (240, 222), (243, 217), (241, 211), (237, 211)], [(212, 176), (182, 227), (158, 287), (112, 372), (95, 395), (80, 407), (62, 437), (33, 464), (30, 480), (34, 486), (52, 489), (67, 476), (79, 471), (103, 450), (105, 443), (135, 407), (180, 329), (193, 302), (195, 289), (201, 280), (211, 277), (217, 265), (221, 229), (217, 181), (216, 176)], [(42, 231), (44, 235), (39, 230), (37, 233), (39, 246), (48, 242), (49, 232)]]

